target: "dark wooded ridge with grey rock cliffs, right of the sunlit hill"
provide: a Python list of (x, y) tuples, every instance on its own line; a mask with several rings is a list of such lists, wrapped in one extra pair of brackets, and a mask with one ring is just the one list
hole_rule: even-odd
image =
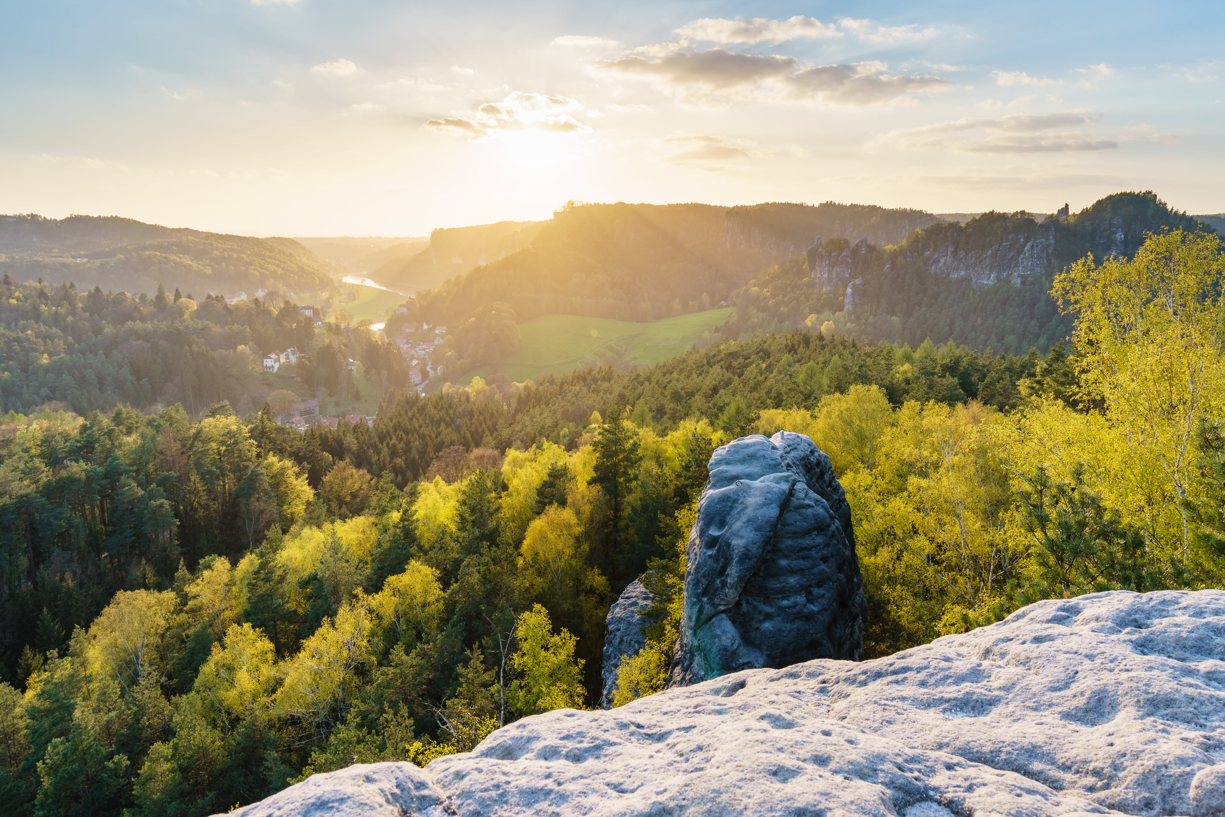
[(989, 212), (915, 230), (895, 246), (827, 241), (820, 254), (790, 258), (733, 293), (736, 316), (725, 331), (744, 337), (828, 325), (913, 345), (931, 337), (996, 353), (1045, 352), (1072, 328), (1050, 296), (1060, 271), (1087, 254), (1131, 256), (1149, 233), (1194, 230), (1203, 220), (1153, 191), (1121, 192), (1041, 223), (1025, 212)]

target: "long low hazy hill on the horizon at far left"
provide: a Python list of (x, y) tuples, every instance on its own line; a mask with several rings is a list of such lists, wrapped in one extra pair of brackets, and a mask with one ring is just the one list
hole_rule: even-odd
[(77, 289), (197, 298), (258, 289), (322, 293), (331, 265), (293, 239), (257, 239), (145, 224), (115, 216), (0, 216), (0, 272)]

